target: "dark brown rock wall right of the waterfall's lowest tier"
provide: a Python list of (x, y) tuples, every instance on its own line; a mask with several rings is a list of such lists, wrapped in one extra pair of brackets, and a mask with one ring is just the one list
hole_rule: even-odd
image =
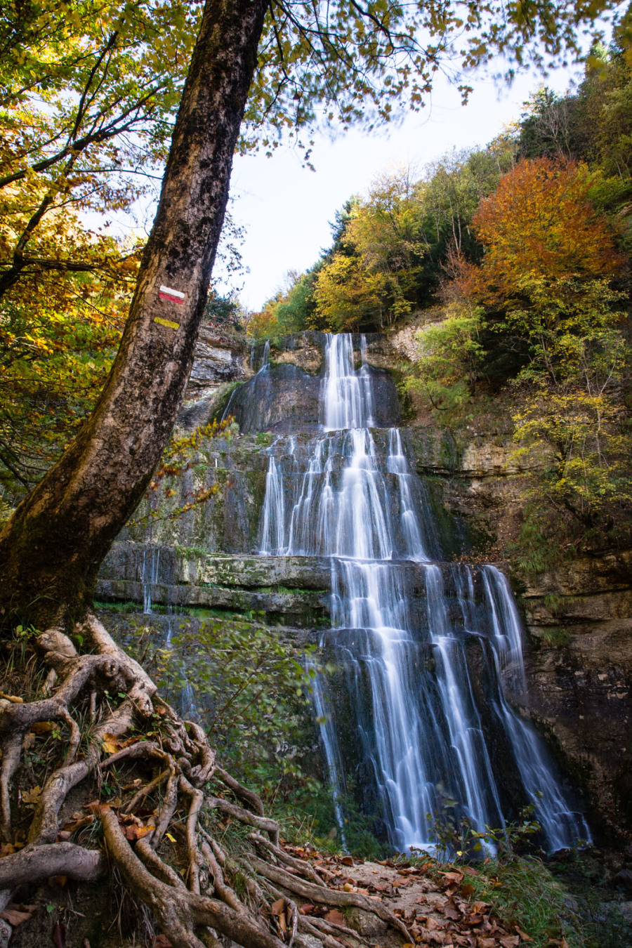
[[(596, 817), (632, 826), (632, 552), (584, 556), (523, 593), (533, 708), (583, 775)], [(616, 836), (614, 837), (616, 838)]]

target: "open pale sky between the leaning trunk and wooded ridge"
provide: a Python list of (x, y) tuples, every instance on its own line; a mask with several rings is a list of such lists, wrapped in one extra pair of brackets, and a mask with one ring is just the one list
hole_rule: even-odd
[[(281, 145), (272, 157), (237, 156), (231, 179), (230, 212), (244, 228), (244, 273), (233, 285), (248, 309), (259, 310), (284, 284), (289, 269), (303, 271), (330, 246), (334, 213), (352, 194), (362, 194), (379, 173), (400, 165), (418, 169), (453, 148), (484, 146), (508, 122), (519, 118), (522, 103), (542, 83), (558, 93), (579, 81), (583, 67), (560, 68), (546, 80), (535, 72), (518, 75), (511, 86), (476, 74), (467, 105), (446, 81), (420, 113), (408, 113), (396, 127), (364, 134), (352, 129), (331, 140), (316, 137), (312, 163), (301, 166), (300, 153)], [(222, 283), (218, 288), (222, 288)], [(226, 286), (226, 284), (224, 284)]]

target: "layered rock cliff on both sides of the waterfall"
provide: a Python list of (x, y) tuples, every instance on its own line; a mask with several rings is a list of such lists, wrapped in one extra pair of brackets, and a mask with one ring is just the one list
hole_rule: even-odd
[[(143, 502), (104, 564), (99, 599), (262, 611), (271, 625), (307, 637), (327, 625), (324, 560), (256, 555), (268, 449), (298, 419), (301, 437), (318, 428), (320, 336), (284, 340), (272, 347), (268, 369), (257, 372), (261, 345), (250, 351), (203, 332), (180, 423), (208, 421), (226, 404), (229, 387), (246, 381), (229, 407), (242, 434), (204, 446), (174, 496), (157, 491)], [(403, 352), (414, 348), (410, 333), (400, 336), (392, 347), (388, 337), (367, 338), (378, 425), (399, 419), (389, 370), (401, 370)], [(502, 412), (458, 431), (419, 421), (412, 419), (402, 437), (442, 523), (444, 549), (494, 559), (495, 546), (517, 536), (529, 474), (515, 459), (511, 424)], [(207, 503), (171, 519), (200, 487), (214, 486), (220, 490)], [(587, 788), (592, 825), (617, 837), (632, 827), (632, 551), (584, 556), (537, 578), (515, 573), (514, 585), (527, 628), (533, 716)]]

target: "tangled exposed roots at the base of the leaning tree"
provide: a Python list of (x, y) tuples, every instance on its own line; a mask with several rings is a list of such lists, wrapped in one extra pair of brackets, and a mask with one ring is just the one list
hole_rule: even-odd
[[(307, 948), (310, 939), (323, 948), (341, 948), (350, 938), (365, 943), (345, 926), (302, 916), (297, 896), (370, 911), (411, 941), (404, 923), (382, 902), (329, 889), (312, 866), (280, 847), (279, 825), (265, 816), (260, 797), (215, 764), (204, 730), (181, 720), (157, 696), (152, 680), (94, 615), (78, 632), (90, 654), (78, 654), (63, 632), (49, 629), (37, 642), (49, 669), (40, 693), (28, 702), (0, 698), (0, 831), (6, 853), (0, 858), (0, 890), (55, 875), (95, 880), (109, 861), (152, 910), (173, 948), (219, 948), (222, 937), (244, 948), (293, 948), (295, 942)], [(11, 786), (33, 734), (53, 726), (63, 731), (63, 759), (35, 794), (25, 831), (13, 825)], [(125, 787), (132, 793), (110, 805), (99, 789), (121, 768), (128, 778), (135, 776)], [(91, 815), (71, 817), (69, 794), (80, 786)], [(209, 830), (212, 811), (254, 830), (249, 838), (259, 855), (253, 852), (243, 865), (232, 862)], [(70, 842), (91, 820), (102, 825), (107, 861), (94, 842), (93, 848)], [(234, 886), (238, 875), (241, 896)], [(268, 905), (279, 899), (282, 924)]]

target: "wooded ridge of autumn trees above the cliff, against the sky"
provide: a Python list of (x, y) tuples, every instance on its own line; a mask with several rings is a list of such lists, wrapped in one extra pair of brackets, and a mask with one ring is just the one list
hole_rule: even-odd
[[(336, 214), (332, 245), (306, 273), (294, 274), (289, 288), (265, 303), (254, 315), (250, 332), (263, 337), (304, 328), (357, 331), (392, 325), (441, 298), (463, 263), (479, 264), (485, 255), (483, 269), (489, 274), (492, 246), (502, 240), (505, 249), (508, 246), (498, 221), (495, 225), (486, 220), (503, 200), (508, 209), (514, 208), (506, 215), (505, 228), (515, 228), (539, 252), (541, 235), (531, 229), (537, 195), (532, 206), (524, 206), (525, 217), (520, 219), (518, 205), (511, 204), (508, 194), (518, 180), (525, 189), (537, 184), (541, 198), (542, 191), (548, 191), (549, 221), (541, 222), (541, 228), (561, 227), (558, 236), (566, 232), (570, 239), (580, 227), (586, 248), (592, 245), (594, 254), (602, 255), (598, 269), (612, 275), (616, 261), (621, 264), (632, 247), (628, 30), (629, 14), (609, 47), (593, 46), (576, 92), (558, 96), (541, 86), (524, 103), (519, 120), (485, 148), (453, 150), (427, 165), (421, 175), (410, 169), (383, 174), (366, 194), (352, 196)], [(512, 177), (516, 166), (525, 162), (533, 180), (526, 171)], [(558, 203), (564, 201), (565, 175), (567, 184), (572, 178), (584, 195), (572, 223), (569, 208)], [(568, 274), (588, 265), (597, 275), (594, 259), (591, 264), (571, 259), (575, 250), (567, 246), (563, 251), (553, 232), (550, 246), (551, 252), (541, 258), (543, 267)], [(497, 254), (496, 266), (506, 269), (506, 280), (512, 278), (511, 266), (520, 265)]]

